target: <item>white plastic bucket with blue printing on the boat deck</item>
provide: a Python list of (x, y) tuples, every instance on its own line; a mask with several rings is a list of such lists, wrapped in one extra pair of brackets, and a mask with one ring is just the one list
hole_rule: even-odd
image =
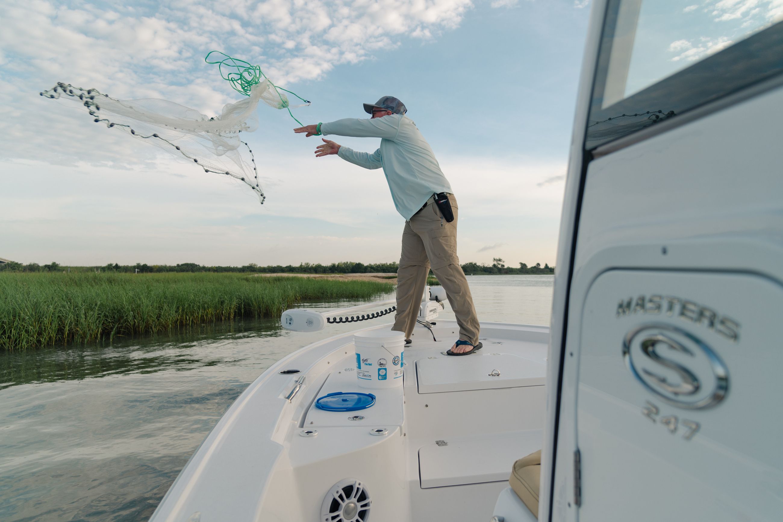
[(356, 378), (363, 388), (402, 386), (405, 334), (391, 330), (355, 333)]

